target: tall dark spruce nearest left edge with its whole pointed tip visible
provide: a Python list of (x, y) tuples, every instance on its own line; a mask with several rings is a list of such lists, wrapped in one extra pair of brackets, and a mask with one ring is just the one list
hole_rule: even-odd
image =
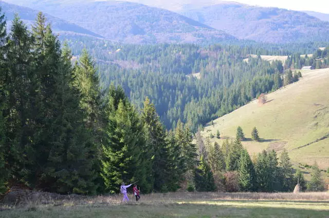
[[(35, 87), (33, 76), (33, 40), (27, 27), (15, 15), (11, 26), (11, 32), (7, 38), (5, 48), (5, 69), (1, 72), (6, 92), (6, 138), (3, 141), (5, 169), (10, 169), (12, 183), (20, 183), (29, 186), (27, 177), (31, 175), (28, 165), (33, 154), (31, 137), (33, 135), (31, 120), (33, 102), (31, 91)], [(10, 184), (10, 185), (14, 185)]]

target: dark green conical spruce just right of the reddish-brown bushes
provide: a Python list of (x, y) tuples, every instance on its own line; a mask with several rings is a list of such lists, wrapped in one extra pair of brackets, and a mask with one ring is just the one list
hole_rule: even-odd
[(253, 163), (245, 149), (241, 150), (237, 172), (239, 173), (239, 186), (242, 191), (256, 190), (257, 184)]

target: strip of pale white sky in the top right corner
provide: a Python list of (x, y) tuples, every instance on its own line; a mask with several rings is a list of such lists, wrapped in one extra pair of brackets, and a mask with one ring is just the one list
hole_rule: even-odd
[(235, 2), (248, 5), (259, 5), (262, 7), (278, 7), (297, 11), (317, 11), (329, 14), (328, 0), (235, 0)]

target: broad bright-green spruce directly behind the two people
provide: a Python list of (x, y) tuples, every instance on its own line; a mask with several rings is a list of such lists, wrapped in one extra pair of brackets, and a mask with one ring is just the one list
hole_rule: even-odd
[[(139, 180), (144, 192), (151, 190), (147, 183), (147, 169), (143, 160), (146, 149), (142, 123), (135, 108), (131, 105), (121, 87), (109, 88), (106, 104), (106, 136), (103, 140), (101, 175), (109, 192), (119, 192), (124, 181)], [(149, 163), (149, 160), (145, 160)]]

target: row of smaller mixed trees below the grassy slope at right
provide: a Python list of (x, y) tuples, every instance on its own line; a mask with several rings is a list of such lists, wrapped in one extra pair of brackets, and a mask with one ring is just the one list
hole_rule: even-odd
[[(306, 183), (300, 169), (293, 169), (288, 152), (283, 150), (278, 158), (277, 152), (263, 151), (249, 156), (242, 146), (244, 134), (239, 126), (235, 140), (224, 141), (222, 146), (210, 139), (203, 141), (196, 134), (196, 143), (200, 153), (200, 162), (195, 171), (194, 187), (197, 191), (261, 191), (288, 192), (299, 184), (302, 191), (323, 191), (324, 183), (321, 171), (314, 163), (311, 179)], [(193, 190), (190, 184), (188, 190)]]

